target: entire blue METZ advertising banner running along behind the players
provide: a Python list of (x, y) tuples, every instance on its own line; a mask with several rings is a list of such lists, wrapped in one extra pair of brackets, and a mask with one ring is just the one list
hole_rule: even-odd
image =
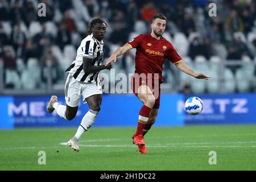
[[(199, 115), (187, 114), (184, 102), (191, 95), (161, 94), (160, 109), (155, 126), (183, 126), (197, 124), (256, 123), (256, 94), (199, 94), (204, 109)], [(77, 127), (89, 110), (81, 104), (72, 121), (46, 110), (50, 96), (0, 97), (0, 129), (13, 127)], [(63, 96), (59, 96), (65, 104)], [(137, 126), (142, 102), (133, 94), (104, 94), (101, 111), (94, 126)]]

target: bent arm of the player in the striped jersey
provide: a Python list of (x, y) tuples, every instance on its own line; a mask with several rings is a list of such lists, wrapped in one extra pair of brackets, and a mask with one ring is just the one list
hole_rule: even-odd
[(100, 66), (94, 66), (92, 65), (92, 59), (88, 57), (82, 57), (82, 69), (84, 70), (85, 74), (88, 73), (96, 73), (101, 71), (102, 69), (111, 69), (112, 64), (110, 63), (109, 65), (100, 65)]

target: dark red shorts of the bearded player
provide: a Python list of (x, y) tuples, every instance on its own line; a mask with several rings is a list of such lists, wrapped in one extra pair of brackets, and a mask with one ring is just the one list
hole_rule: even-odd
[[(139, 80), (135, 80), (134, 76), (131, 77), (131, 90), (133, 90), (133, 93), (138, 97), (138, 88), (141, 85), (147, 85), (151, 92), (154, 94), (155, 97), (155, 105), (153, 106), (154, 109), (159, 109), (160, 106), (160, 82), (157, 81), (156, 83), (152, 81), (152, 83), (148, 82), (148, 80), (143, 80), (142, 78), (139, 78)], [(158, 90), (158, 92), (155, 92), (155, 89)]]

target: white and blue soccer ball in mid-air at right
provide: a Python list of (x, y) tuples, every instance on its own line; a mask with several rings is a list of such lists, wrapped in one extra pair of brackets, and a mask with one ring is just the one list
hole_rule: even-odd
[(203, 102), (198, 97), (189, 97), (185, 102), (185, 110), (188, 114), (200, 114), (203, 110)]

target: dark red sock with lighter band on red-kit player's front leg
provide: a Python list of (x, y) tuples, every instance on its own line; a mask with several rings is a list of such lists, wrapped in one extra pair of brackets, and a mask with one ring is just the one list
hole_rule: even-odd
[(150, 115), (151, 108), (143, 105), (141, 107), (141, 110), (139, 111), (139, 122), (137, 126), (137, 131), (134, 134), (135, 136), (137, 135), (143, 135), (143, 128), (145, 124), (147, 123), (148, 117)]

